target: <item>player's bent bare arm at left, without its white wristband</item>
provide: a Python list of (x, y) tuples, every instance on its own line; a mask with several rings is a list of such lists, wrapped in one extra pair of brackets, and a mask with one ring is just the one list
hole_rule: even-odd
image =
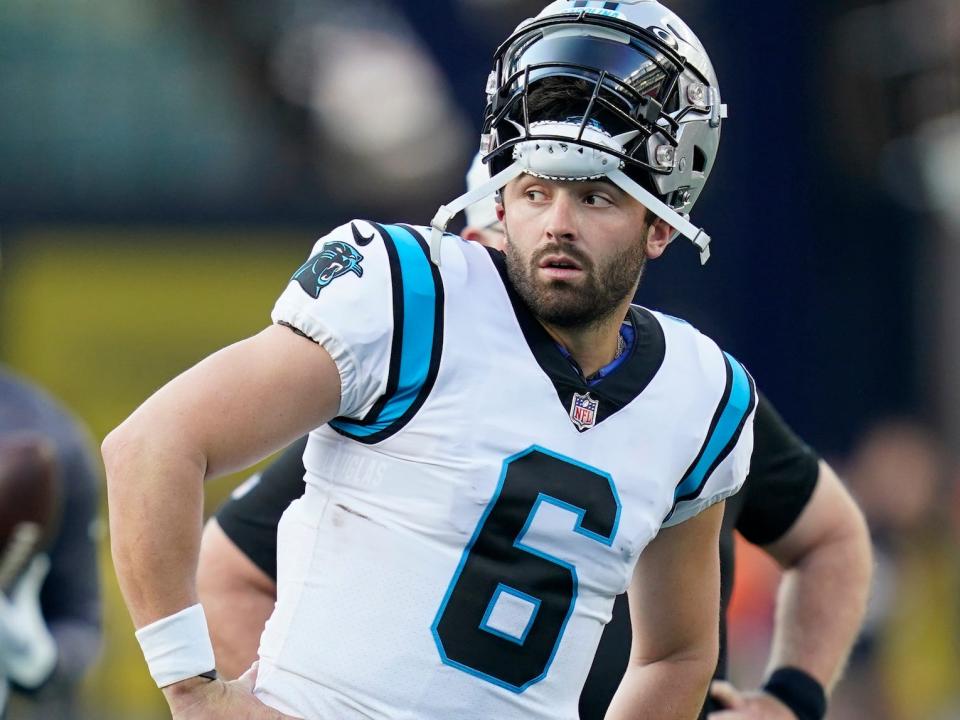
[[(251, 465), (339, 406), (330, 355), (274, 325), (171, 381), (107, 437), (113, 559), (138, 628), (197, 602), (203, 481)], [(171, 705), (195, 683), (165, 688)]]

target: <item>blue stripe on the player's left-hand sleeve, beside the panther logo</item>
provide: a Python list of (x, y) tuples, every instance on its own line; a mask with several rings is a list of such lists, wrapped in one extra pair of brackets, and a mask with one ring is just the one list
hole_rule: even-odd
[(375, 418), (362, 424), (348, 420), (330, 423), (339, 432), (357, 438), (385, 430), (411, 409), (430, 372), (436, 332), (437, 290), (430, 259), (416, 238), (403, 228), (385, 225), (384, 229), (400, 261), (400, 277), (393, 278), (393, 282), (401, 283), (403, 288), (399, 377), (395, 392), (386, 398)]

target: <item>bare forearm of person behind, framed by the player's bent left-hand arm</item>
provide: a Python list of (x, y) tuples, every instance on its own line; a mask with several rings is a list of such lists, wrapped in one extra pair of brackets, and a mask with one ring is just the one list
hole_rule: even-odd
[(260, 635), (277, 600), (277, 584), (214, 518), (203, 530), (197, 592), (207, 614), (217, 670), (227, 679), (240, 677), (257, 659)]

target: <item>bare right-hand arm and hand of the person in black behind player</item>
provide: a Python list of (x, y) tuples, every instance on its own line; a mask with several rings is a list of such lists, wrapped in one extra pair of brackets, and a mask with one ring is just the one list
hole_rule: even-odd
[[(863, 620), (872, 554), (863, 515), (825, 462), (800, 517), (764, 550), (785, 570), (769, 672), (797, 668), (829, 693)], [(740, 693), (717, 683), (712, 694), (730, 708), (712, 713), (712, 720), (795, 717), (767, 693)]]

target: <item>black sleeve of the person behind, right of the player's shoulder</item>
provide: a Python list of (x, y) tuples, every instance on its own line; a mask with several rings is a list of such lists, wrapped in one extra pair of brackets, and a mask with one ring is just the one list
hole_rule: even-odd
[(761, 393), (754, 449), (737, 530), (755, 545), (779, 540), (807, 506), (820, 477), (820, 456)]

